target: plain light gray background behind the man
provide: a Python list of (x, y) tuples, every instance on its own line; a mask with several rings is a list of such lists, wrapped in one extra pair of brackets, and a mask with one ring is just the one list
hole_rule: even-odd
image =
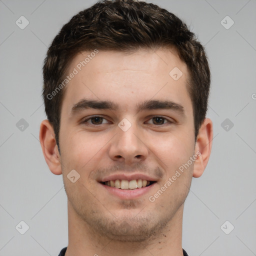
[[(67, 245), (62, 175), (48, 170), (38, 141), (45, 118), (41, 68), (61, 26), (94, 2), (0, 0), (1, 256), (54, 256)], [(151, 2), (198, 35), (212, 74), (207, 112), (213, 121), (212, 152), (203, 175), (192, 180), (182, 246), (190, 256), (256, 255), (256, 0)], [(24, 29), (15, 24), (21, 15), (29, 21)], [(234, 21), (229, 29), (220, 22), (226, 15)], [(21, 118), (28, 127), (20, 126)], [(15, 228), (21, 220), (29, 226), (24, 234)], [(226, 234), (230, 223), (234, 229)]]

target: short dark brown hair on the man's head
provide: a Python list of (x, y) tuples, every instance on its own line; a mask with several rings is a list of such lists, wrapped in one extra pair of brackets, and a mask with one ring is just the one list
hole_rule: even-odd
[[(51, 93), (63, 81), (72, 58), (87, 50), (133, 51), (173, 47), (188, 67), (188, 92), (193, 106), (195, 140), (205, 118), (210, 70), (204, 47), (173, 13), (135, 0), (101, 0), (74, 15), (48, 48), (43, 65), (43, 99), (58, 145), (64, 89)], [(62, 87), (62, 86), (61, 86)]]

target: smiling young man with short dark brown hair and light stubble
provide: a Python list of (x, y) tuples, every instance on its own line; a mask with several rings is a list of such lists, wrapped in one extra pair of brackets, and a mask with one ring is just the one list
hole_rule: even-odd
[(43, 78), (40, 142), (67, 194), (59, 255), (187, 255), (183, 205), (212, 140), (194, 34), (157, 5), (103, 0), (62, 27)]

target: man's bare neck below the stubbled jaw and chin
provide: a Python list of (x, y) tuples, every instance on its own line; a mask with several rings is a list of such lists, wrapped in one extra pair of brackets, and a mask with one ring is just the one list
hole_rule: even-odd
[(68, 246), (65, 256), (111, 256), (119, 255), (154, 255), (154, 256), (182, 256), (182, 215), (183, 204), (176, 214), (161, 229), (144, 241), (127, 242), (109, 239), (93, 230), (73, 210), (68, 201)]

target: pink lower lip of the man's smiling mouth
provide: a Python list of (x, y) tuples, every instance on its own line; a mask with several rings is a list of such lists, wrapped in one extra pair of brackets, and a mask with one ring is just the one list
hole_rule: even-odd
[(106, 191), (108, 191), (109, 193), (115, 196), (118, 196), (121, 199), (128, 200), (128, 199), (136, 199), (141, 197), (142, 195), (145, 195), (152, 189), (152, 187), (154, 187), (155, 183), (156, 182), (154, 182), (150, 186), (145, 186), (145, 187), (140, 187), (135, 189), (121, 189), (121, 188), (116, 188), (112, 186), (107, 186), (101, 183), (99, 184), (102, 185), (106, 189)]

